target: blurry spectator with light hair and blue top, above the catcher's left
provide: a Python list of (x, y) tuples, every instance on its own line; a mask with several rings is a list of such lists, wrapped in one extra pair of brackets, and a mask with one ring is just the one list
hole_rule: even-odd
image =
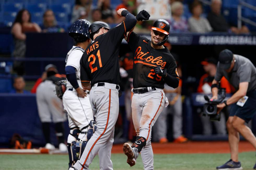
[(48, 9), (44, 12), (43, 25), (41, 29), (44, 33), (63, 33), (65, 30), (57, 25), (54, 13)]

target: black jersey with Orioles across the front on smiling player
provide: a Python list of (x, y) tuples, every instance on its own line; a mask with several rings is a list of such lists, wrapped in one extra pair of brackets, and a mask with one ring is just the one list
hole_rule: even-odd
[(179, 79), (176, 61), (165, 47), (155, 49), (146, 37), (130, 32), (127, 42), (133, 52), (133, 87), (156, 87), (164, 89), (165, 80), (154, 72), (153, 67), (167, 69), (167, 73)]

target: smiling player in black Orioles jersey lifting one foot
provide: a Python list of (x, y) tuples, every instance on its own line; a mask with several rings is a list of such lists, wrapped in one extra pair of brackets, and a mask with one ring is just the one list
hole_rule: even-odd
[(125, 143), (123, 150), (127, 163), (135, 165), (141, 152), (144, 169), (154, 169), (151, 146), (152, 126), (168, 105), (164, 84), (178, 87), (179, 75), (175, 59), (163, 46), (169, 37), (170, 25), (166, 20), (155, 21), (151, 29), (151, 40), (129, 32), (128, 42), (133, 58), (132, 119), (137, 133), (136, 142)]

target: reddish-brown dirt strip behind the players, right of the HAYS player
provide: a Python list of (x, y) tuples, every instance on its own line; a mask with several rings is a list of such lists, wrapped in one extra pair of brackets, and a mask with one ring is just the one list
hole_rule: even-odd
[[(220, 142), (186, 142), (186, 143), (152, 143), (155, 154), (175, 153), (229, 153), (227, 141)], [(123, 145), (113, 145), (112, 153), (123, 153)], [(255, 151), (254, 147), (247, 141), (240, 141), (239, 152)]]

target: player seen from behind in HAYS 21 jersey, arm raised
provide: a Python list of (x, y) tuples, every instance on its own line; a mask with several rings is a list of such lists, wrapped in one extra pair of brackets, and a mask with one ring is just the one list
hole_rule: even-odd
[(100, 158), (101, 170), (113, 169), (110, 156), (119, 112), (119, 48), (127, 31), (137, 21), (124, 8), (119, 9), (117, 14), (125, 17), (125, 21), (118, 26), (110, 29), (108, 24), (96, 21), (89, 28), (92, 42), (80, 60), (80, 78), (83, 88), (90, 90), (89, 99), (96, 116), (97, 130), (72, 170), (88, 169), (96, 154)]

